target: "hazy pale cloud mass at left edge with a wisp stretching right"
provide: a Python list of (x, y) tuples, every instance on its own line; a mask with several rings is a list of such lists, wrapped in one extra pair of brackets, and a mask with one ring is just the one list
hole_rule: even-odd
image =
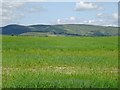
[[(11, 2), (6, 0), (2, 2), (0, 5), (0, 26), (5, 26), (10, 23), (17, 23), (19, 22), (20, 18), (25, 16), (24, 13), (33, 13), (33, 12), (40, 12), (45, 10), (43, 7), (34, 6), (34, 7), (23, 7), (25, 4), (29, 4), (30, 2), (21, 2), (20, 0), (12, 0)], [(19, 9), (19, 10), (17, 10)], [(21, 9), (21, 10), (20, 10)]]

